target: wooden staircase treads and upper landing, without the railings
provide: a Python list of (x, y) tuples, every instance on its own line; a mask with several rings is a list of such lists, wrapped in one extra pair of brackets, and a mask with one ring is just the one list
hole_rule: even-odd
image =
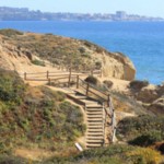
[(85, 110), (85, 148), (99, 148), (105, 143), (105, 131), (104, 131), (104, 106), (99, 104), (98, 101), (93, 99), (86, 95), (81, 90), (70, 90), (67, 94), (69, 97), (81, 102), (84, 105)]

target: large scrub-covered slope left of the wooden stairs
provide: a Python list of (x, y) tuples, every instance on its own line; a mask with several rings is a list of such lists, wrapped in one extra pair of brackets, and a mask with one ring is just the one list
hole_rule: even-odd
[(81, 109), (67, 102), (63, 93), (30, 86), (16, 72), (0, 69), (2, 156), (19, 147), (70, 151), (85, 130)]

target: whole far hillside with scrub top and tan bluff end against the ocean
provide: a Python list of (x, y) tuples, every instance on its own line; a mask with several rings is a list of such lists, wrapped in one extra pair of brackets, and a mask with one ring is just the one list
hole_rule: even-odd
[(104, 77), (129, 81), (136, 75), (133, 63), (128, 57), (120, 52), (109, 52), (87, 40), (14, 30), (1, 30), (0, 34), (1, 50), (5, 50), (9, 44), (13, 46), (12, 49), (28, 49), (33, 56), (50, 60), (55, 65), (70, 67), (71, 63), (75, 70), (102, 68)]

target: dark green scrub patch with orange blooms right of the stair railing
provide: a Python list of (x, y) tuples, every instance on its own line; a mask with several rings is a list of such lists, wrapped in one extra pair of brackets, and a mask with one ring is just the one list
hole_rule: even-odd
[(117, 137), (133, 145), (153, 145), (164, 140), (163, 120), (163, 116), (127, 117), (118, 122)]

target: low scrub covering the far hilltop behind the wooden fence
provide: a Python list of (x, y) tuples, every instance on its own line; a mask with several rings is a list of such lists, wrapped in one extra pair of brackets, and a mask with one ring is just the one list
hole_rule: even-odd
[[(67, 67), (71, 65), (77, 70), (91, 70), (102, 67), (101, 61), (93, 57), (89, 50), (86, 51), (85, 46), (89, 49), (94, 47), (97, 47), (97, 49), (103, 48), (87, 40), (61, 37), (49, 33), (45, 35), (22, 33), (15, 30), (1, 30), (0, 34), (8, 43), (16, 47), (26, 48), (42, 59), (51, 61), (54, 65)], [(32, 62), (40, 63), (38, 61)]]

